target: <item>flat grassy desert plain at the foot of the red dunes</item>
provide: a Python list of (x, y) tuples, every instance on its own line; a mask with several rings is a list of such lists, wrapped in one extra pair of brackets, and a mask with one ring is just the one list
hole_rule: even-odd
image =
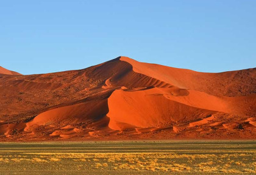
[(255, 174), (256, 141), (0, 143), (0, 174)]

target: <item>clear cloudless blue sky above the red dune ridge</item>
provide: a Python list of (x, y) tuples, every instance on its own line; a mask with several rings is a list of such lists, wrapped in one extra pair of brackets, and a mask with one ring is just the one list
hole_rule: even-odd
[(256, 1), (0, 1), (0, 66), (83, 69), (119, 55), (200, 72), (256, 67)]

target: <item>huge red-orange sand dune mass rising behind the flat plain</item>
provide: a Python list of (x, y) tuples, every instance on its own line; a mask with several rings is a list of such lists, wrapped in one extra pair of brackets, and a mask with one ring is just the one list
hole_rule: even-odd
[(0, 67), (0, 140), (256, 139), (256, 69), (202, 73), (118, 57), (82, 70)]

